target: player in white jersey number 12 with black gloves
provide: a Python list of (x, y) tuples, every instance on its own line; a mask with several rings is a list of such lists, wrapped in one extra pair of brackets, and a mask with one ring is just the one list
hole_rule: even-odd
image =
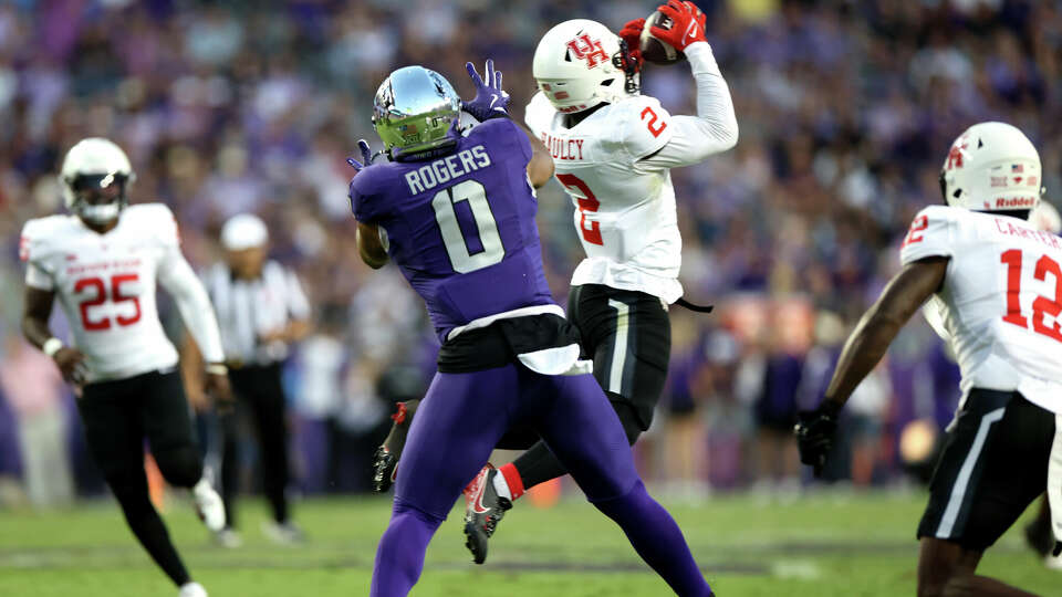
[[(971, 126), (940, 175), (945, 206), (919, 212), (903, 269), (845, 344), (825, 398), (796, 426), (801, 460), (823, 465), (836, 416), (899, 328), (936, 297), (962, 399), (918, 525), (918, 595), (1028, 596), (977, 575), (991, 546), (1048, 491), (1062, 512), (1062, 239), (1029, 213), (1040, 156), (1008, 124)], [(1058, 534), (1058, 531), (1055, 531)]]

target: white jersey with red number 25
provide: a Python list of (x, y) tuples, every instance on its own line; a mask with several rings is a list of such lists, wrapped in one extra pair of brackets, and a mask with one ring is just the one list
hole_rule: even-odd
[[(155, 304), (156, 281), (178, 300), (204, 357), (221, 360), (220, 339), (206, 292), (180, 253), (174, 214), (162, 203), (125, 208), (118, 223), (100, 234), (76, 216), (30, 220), (22, 230), (20, 255), (25, 283), (54, 291), (85, 355), (86, 381), (122, 379), (174, 367), (177, 350), (166, 337)], [(187, 276), (198, 286), (187, 287)], [(201, 301), (200, 296), (201, 294)], [(185, 298), (190, 295), (191, 301)], [(189, 310), (206, 314), (189, 322)], [(204, 327), (212, 323), (212, 335)], [(212, 337), (211, 337), (212, 336)]]

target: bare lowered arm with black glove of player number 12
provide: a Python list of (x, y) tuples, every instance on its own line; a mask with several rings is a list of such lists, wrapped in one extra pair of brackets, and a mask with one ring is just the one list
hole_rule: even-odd
[(899, 329), (940, 289), (948, 258), (931, 256), (908, 263), (882, 291), (848, 337), (825, 397), (813, 411), (799, 413), (794, 428), (800, 460), (818, 476), (833, 448), (836, 419), (855, 388), (885, 356)]

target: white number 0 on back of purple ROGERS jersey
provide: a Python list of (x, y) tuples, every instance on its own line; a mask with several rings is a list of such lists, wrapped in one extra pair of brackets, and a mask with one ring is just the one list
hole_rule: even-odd
[[(468, 201), (472, 211), (472, 220), (479, 231), (479, 242), (482, 249), (472, 253), (468, 241), (461, 232), (457, 220), (457, 203)], [(498, 234), (498, 223), (487, 202), (487, 189), (476, 180), (466, 180), (440, 190), (431, 199), (435, 209), (435, 220), (439, 223), (446, 253), (450, 264), (457, 273), (475, 272), (493, 265), (506, 256), (506, 249), (501, 245)]]

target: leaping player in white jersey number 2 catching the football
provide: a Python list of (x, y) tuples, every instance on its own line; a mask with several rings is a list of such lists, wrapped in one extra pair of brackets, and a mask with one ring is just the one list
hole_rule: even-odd
[[(657, 11), (670, 28), (654, 25), (648, 33), (688, 59), (696, 116), (673, 116), (639, 93), (645, 19), (628, 22), (620, 35), (584, 19), (552, 28), (534, 52), (540, 91), (525, 114), (572, 199), (586, 253), (572, 276), (568, 316), (629, 443), (652, 423), (670, 356), (667, 310), (683, 295), (670, 169), (704, 161), (738, 140), (730, 91), (705, 38), (705, 15), (693, 2), (671, 1)], [(377, 451), (379, 490), (393, 474), (408, 406), (399, 407)], [(500, 469), (483, 468), (466, 494), (465, 533), (475, 562), (486, 559), (488, 538), (514, 500), (566, 472), (542, 442)]]

